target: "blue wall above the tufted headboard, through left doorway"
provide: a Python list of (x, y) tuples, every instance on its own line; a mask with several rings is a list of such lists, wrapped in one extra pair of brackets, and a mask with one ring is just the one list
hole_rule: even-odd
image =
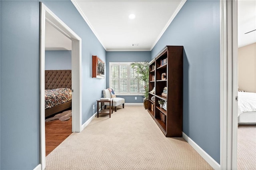
[(71, 51), (54, 50), (45, 51), (46, 70), (71, 70)]

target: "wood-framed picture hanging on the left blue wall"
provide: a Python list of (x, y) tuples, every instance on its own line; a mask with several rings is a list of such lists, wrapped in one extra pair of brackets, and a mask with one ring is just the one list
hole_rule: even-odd
[(97, 55), (92, 55), (92, 78), (104, 79), (104, 77), (105, 63)]

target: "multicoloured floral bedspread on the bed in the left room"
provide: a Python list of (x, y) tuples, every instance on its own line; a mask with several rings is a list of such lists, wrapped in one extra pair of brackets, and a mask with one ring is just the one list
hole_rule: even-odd
[(68, 102), (72, 99), (72, 90), (68, 88), (46, 89), (45, 109)]

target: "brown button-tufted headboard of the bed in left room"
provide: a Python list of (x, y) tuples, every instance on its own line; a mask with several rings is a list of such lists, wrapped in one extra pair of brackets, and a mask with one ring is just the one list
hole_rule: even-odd
[(71, 70), (45, 70), (45, 89), (72, 87)]

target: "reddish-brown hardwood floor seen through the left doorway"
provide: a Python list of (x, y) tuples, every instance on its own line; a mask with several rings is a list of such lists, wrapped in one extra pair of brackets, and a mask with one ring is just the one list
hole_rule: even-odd
[(72, 117), (68, 121), (45, 123), (46, 156), (72, 133)]

